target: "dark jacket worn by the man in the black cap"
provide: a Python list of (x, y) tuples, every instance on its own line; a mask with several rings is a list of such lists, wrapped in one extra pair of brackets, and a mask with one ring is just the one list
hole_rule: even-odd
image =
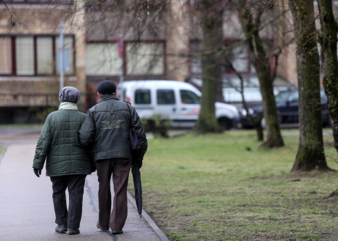
[[(130, 152), (130, 123), (141, 145), (137, 156)], [(92, 147), (95, 161), (128, 158), (140, 162), (148, 148), (146, 133), (135, 108), (119, 101), (114, 94), (104, 94), (101, 103), (88, 110), (80, 129), (80, 140), (83, 146)]]

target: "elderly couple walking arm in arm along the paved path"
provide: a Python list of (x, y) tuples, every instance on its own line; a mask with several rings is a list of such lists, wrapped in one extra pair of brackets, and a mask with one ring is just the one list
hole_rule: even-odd
[[(50, 113), (43, 125), (33, 160), (39, 177), (46, 160), (46, 175), (52, 181), (52, 198), (57, 233), (79, 233), (83, 188), (86, 175), (95, 169), (99, 180), (99, 220), (97, 228), (123, 233), (127, 218), (127, 185), (131, 165), (141, 167), (148, 144), (140, 118), (132, 105), (119, 101), (116, 85), (102, 81), (97, 85), (101, 102), (79, 112), (80, 92), (63, 87), (59, 92), (59, 110)], [(131, 154), (129, 132), (135, 130), (141, 145)], [(115, 196), (111, 211), (110, 178)], [(66, 189), (69, 206), (66, 205)]]

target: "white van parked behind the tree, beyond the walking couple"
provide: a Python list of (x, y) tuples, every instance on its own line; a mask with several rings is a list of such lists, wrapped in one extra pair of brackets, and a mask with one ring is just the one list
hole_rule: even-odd
[[(201, 92), (181, 81), (126, 81), (118, 86), (117, 93), (120, 99), (132, 103), (141, 119), (158, 114), (172, 121), (172, 127), (194, 127), (201, 108)], [(225, 103), (216, 103), (215, 107), (223, 129), (237, 127), (237, 107)]]

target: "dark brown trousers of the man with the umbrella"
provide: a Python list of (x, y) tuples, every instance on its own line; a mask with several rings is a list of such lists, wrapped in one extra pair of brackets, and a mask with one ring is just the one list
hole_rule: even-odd
[[(127, 186), (132, 162), (112, 158), (95, 162), (99, 178), (99, 224), (101, 227), (122, 230), (128, 215)], [(114, 184), (114, 201), (110, 193), (110, 178)], [(112, 212), (111, 211), (112, 207)]]

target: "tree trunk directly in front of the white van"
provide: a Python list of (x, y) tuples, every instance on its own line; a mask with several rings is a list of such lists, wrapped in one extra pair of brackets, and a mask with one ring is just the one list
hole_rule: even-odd
[(217, 85), (221, 83), (222, 13), (218, 1), (201, 1), (201, 27), (203, 30), (202, 54), (202, 97), (199, 119), (195, 125), (197, 133), (221, 132), (215, 116)]

